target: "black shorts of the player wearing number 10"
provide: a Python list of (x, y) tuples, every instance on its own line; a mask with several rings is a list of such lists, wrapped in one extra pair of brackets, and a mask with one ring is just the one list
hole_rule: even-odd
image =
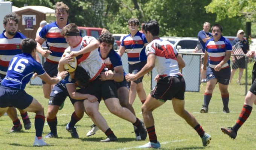
[(186, 84), (182, 76), (160, 77), (157, 85), (151, 90), (150, 95), (163, 102), (172, 98), (184, 100), (185, 89)]

